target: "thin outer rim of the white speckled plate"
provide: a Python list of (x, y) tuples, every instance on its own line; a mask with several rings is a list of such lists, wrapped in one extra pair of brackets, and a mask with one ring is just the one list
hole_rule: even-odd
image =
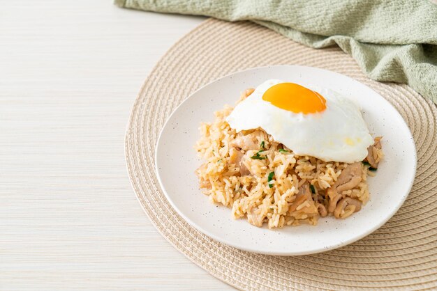
[[(175, 205), (175, 203), (172, 201), (172, 199), (170, 198), (170, 196), (168, 195), (167, 191), (165, 190), (163, 181), (161, 180), (161, 175), (160, 175), (160, 171), (158, 170), (158, 149), (162, 143), (163, 140), (163, 131), (164, 129), (168, 126), (168, 124), (170, 123), (170, 120), (172, 119), (172, 117), (175, 115), (175, 113), (180, 109), (180, 107), (182, 107), (186, 102), (188, 102), (188, 100), (191, 99), (191, 97), (193, 97), (193, 95), (195, 95), (196, 93), (198, 93), (198, 91), (203, 90), (205, 87), (214, 84), (217, 81), (221, 81), (222, 79), (228, 78), (234, 74), (239, 74), (242, 72), (249, 72), (251, 70), (262, 70), (262, 69), (267, 69), (267, 68), (283, 68), (283, 67), (287, 67), (287, 68), (311, 68), (311, 70), (320, 70), (322, 72), (328, 72), (329, 74), (336, 74), (339, 75), (341, 77), (346, 77), (347, 79), (350, 79), (354, 82), (357, 82), (358, 84), (361, 84), (362, 86), (365, 86), (366, 88), (369, 88), (371, 91), (375, 92), (378, 97), (380, 97), (381, 100), (383, 100), (383, 102), (385, 102), (385, 104), (387, 104), (389, 107), (391, 107), (392, 109), (394, 109), (394, 111), (398, 114), (398, 116), (401, 118), (403, 125), (406, 126), (406, 128), (408, 129), (408, 134), (410, 136), (410, 141), (411, 144), (413, 146), (413, 156), (414, 156), (414, 164), (413, 164), (413, 171), (412, 173), (412, 178), (410, 179), (410, 182), (408, 183), (408, 187), (406, 187), (406, 194), (405, 196), (403, 196), (403, 198), (400, 200), (399, 204), (397, 205), (397, 207), (394, 207), (393, 211), (387, 216), (386, 219), (381, 219), (380, 221), (378, 221), (378, 223), (375, 224), (375, 226), (373, 226), (372, 228), (369, 228), (369, 230), (364, 231), (363, 233), (361, 233), (360, 235), (356, 235), (355, 237), (351, 237), (349, 239), (345, 239), (345, 240), (341, 240), (341, 242), (339, 242), (338, 244), (332, 244), (329, 247), (318, 247), (315, 249), (312, 249), (311, 251), (262, 251), (260, 249), (253, 249), (251, 247), (244, 247), (241, 245), (237, 245), (234, 244), (233, 242), (230, 242), (226, 239), (223, 239), (223, 237), (214, 235), (213, 233), (209, 233), (207, 230), (203, 229), (202, 227), (198, 226), (197, 223), (195, 223), (194, 221), (192, 221), (191, 219), (189, 219), (188, 217), (186, 217), (186, 215), (184, 214), (184, 212), (182, 212), (181, 210), (179, 210), (179, 208)], [(401, 116), (401, 113), (399, 113), (399, 111), (396, 109), (396, 107), (394, 107), (392, 104), (390, 104), (390, 102), (388, 102), (388, 100), (386, 100), (382, 95), (380, 95), (380, 93), (376, 92), (375, 90), (373, 90), (373, 88), (367, 86), (366, 84), (363, 84), (362, 82), (353, 79), (352, 77), (346, 76), (345, 74), (341, 74), (339, 72), (334, 72), (332, 70), (327, 70), (327, 69), (323, 69), (323, 68), (318, 68), (318, 67), (312, 67), (309, 65), (265, 65), (265, 66), (260, 66), (260, 67), (253, 67), (253, 68), (248, 68), (245, 70), (237, 70), (235, 72), (230, 72), (229, 74), (225, 74), (222, 77), (216, 78), (212, 81), (209, 81), (207, 84), (202, 85), (200, 88), (198, 88), (197, 90), (193, 91), (192, 93), (190, 93), (190, 95), (188, 95), (187, 97), (184, 98), (184, 100), (182, 100), (182, 102), (177, 105), (177, 107), (172, 111), (172, 113), (170, 113), (170, 115), (168, 116), (167, 120), (165, 120), (165, 123), (163, 124), (163, 127), (161, 128), (161, 131), (159, 133), (158, 136), (158, 140), (156, 141), (156, 146), (155, 146), (155, 154), (154, 154), (154, 166), (155, 166), (155, 173), (156, 173), (156, 179), (158, 180), (158, 184), (161, 187), (161, 190), (163, 191), (163, 194), (165, 196), (165, 198), (167, 199), (168, 203), (170, 203), (170, 205), (172, 206), (172, 208), (177, 212), (177, 214), (179, 214), (184, 221), (186, 221), (190, 226), (192, 226), (193, 228), (195, 228), (196, 230), (200, 231), (200, 233), (207, 235), (207, 237), (211, 237), (212, 239), (221, 242), (227, 246), (232, 246), (235, 249), (240, 249), (242, 251), (249, 251), (251, 253), (260, 253), (263, 255), (310, 255), (310, 254), (315, 254), (315, 253), (323, 253), (325, 251), (331, 251), (334, 249), (339, 249), (342, 246), (346, 246), (348, 244), (352, 244), (353, 242), (357, 242), (358, 240), (362, 239), (363, 237), (366, 237), (367, 235), (370, 235), (371, 233), (373, 233), (375, 230), (378, 230), (378, 228), (380, 228), (381, 226), (383, 226), (385, 223), (387, 223), (387, 221), (389, 221), (394, 214), (396, 214), (399, 209), (402, 207), (403, 203), (405, 203), (406, 198), (408, 197), (408, 195), (410, 194), (410, 191), (413, 187), (414, 184), (414, 180), (415, 180), (415, 175), (416, 175), (416, 171), (417, 171), (417, 148), (415, 146), (415, 141), (413, 139), (413, 134), (411, 134), (411, 130), (410, 127), (408, 127), (408, 124), (406, 123), (406, 120)], [(273, 230), (272, 230), (273, 231)]]

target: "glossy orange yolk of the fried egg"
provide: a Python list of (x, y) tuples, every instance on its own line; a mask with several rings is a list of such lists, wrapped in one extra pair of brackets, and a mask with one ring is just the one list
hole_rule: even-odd
[(262, 95), (262, 100), (294, 113), (317, 113), (326, 109), (326, 100), (322, 95), (294, 83), (270, 87)]

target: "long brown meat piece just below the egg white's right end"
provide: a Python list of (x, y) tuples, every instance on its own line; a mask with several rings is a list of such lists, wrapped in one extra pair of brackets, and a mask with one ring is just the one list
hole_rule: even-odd
[(339, 200), (342, 198), (341, 192), (353, 189), (362, 180), (362, 163), (355, 162), (349, 164), (346, 168), (343, 168), (341, 174), (337, 178), (336, 182), (327, 189), (327, 196), (329, 198), (328, 212), (332, 213)]

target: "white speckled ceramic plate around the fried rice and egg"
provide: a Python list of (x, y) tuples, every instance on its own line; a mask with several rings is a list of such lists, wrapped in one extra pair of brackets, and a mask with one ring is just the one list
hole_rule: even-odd
[[(348, 219), (327, 217), (317, 226), (269, 230), (232, 219), (231, 210), (214, 205), (198, 188), (195, 169), (202, 163), (193, 149), (201, 122), (235, 104), (246, 88), (267, 79), (331, 88), (358, 102), (373, 136), (383, 136), (385, 158), (369, 177), (371, 198)], [(274, 255), (304, 255), (355, 242), (382, 226), (401, 207), (413, 184), (416, 152), (413, 137), (396, 109), (371, 88), (336, 72), (297, 65), (253, 68), (213, 81), (188, 97), (165, 124), (156, 147), (158, 180), (175, 210), (191, 226), (237, 249)]]

